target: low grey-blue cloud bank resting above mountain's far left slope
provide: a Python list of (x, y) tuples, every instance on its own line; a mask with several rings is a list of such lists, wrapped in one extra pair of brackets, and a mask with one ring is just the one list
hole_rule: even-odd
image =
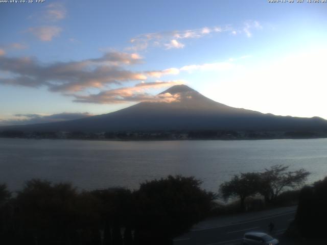
[(28, 124), (43, 124), (46, 122), (66, 121), (80, 119), (92, 116), (88, 112), (85, 113), (68, 113), (63, 112), (53, 115), (44, 114), (15, 114), (12, 119), (0, 119), (0, 125), (28, 125)]

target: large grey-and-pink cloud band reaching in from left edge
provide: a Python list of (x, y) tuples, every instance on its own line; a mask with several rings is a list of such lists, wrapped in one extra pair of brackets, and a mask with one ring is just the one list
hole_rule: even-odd
[(147, 79), (141, 72), (120, 66), (136, 64), (141, 60), (137, 54), (111, 52), (95, 59), (44, 65), (35, 58), (0, 56), (0, 70), (11, 74), (10, 78), (0, 77), (0, 84), (45, 86), (50, 91), (62, 92), (102, 88), (107, 84)]

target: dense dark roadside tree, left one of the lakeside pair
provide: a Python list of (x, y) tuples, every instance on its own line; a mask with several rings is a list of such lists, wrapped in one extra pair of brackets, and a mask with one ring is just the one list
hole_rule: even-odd
[(219, 193), (225, 199), (230, 197), (240, 198), (240, 209), (245, 208), (245, 199), (258, 193), (260, 188), (260, 175), (258, 173), (244, 173), (235, 175), (230, 181), (220, 185)]

